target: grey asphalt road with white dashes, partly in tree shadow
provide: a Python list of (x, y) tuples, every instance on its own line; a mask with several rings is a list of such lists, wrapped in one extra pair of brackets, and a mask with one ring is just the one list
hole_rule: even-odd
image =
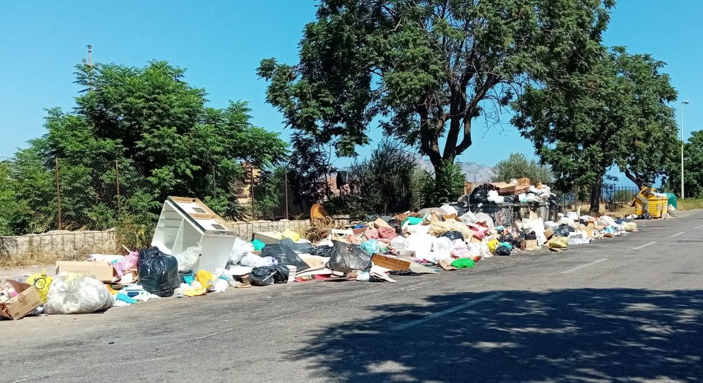
[(2, 321), (0, 382), (701, 382), (703, 212), (639, 224), (394, 284)]

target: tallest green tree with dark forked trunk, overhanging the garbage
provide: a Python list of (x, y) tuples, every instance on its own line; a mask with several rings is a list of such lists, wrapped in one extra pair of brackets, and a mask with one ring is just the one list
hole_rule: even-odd
[(378, 124), (430, 157), (439, 188), (475, 119), (496, 117), (532, 79), (593, 60), (613, 2), (322, 0), (299, 63), (265, 59), (258, 74), (296, 152), (331, 143), (354, 156)]

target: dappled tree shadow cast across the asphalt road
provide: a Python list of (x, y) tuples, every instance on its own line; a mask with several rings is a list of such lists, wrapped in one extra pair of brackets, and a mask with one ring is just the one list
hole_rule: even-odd
[(284, 358), (334, 382), (703, 381), (703, 290), (500, 291), (373, 308)]

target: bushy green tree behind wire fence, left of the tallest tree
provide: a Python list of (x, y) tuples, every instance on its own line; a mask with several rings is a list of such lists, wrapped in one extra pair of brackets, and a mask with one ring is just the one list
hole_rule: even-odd
[(233, 183), (243, 179), (241, 165), (280, 164), (287, 145), (251, 124), (245, 102), (207, 108), (205, 90), (189, 85), (183, 74), (162, 61), (78, 65), (84, 91), (74, 110), (49, 109), (46, 135), (0, 169), (0, 180), (13, 180), (10, 189), (0, 188), (0, 198), (18, 201), (12, 214), (0, 214), (0, 230), (56, 227), (57, 159), (67, 228), (109, 227), (119, 205), (122, 212), (154, 213), (167, 195), (200, 197), (216, 212), (235, 216)]

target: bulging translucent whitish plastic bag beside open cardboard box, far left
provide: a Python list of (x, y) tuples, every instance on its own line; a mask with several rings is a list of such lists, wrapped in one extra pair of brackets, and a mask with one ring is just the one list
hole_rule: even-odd
[(98, 278), (65, 271), (51, 281), (44, 311), (48, 314), (86, 314), (109, 309), (114, 304), (115, 296)]

